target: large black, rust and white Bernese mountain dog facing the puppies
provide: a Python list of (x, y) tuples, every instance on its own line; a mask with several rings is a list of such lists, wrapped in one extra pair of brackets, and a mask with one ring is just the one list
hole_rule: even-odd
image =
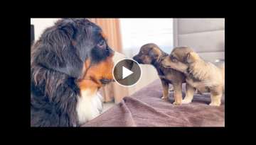
[(114, 51), (85, 18), (60, 19), (31, 48), (31, 127), (79, 127), (102, 112)]

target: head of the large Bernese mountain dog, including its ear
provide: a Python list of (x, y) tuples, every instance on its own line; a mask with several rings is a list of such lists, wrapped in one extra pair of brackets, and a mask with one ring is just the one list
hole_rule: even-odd
[(33, 45), (31, 68), (41, 66), (101, 86), (113, 79), (113, 55), (99, 26), (85, 18), (65, 18), (47, 28)]

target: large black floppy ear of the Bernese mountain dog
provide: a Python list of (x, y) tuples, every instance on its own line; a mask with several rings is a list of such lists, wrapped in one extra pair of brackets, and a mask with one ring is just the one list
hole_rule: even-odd
[(41, 37), (36, 63), (79, 78), (82, 74), (83, 61), (73, 45), (73, 28), (50, 28)]

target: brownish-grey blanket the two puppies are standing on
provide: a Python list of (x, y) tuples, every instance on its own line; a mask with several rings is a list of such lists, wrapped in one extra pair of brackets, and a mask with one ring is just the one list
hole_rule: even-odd
[[(220, 107), (208, 105), (210, 93), (195, 94), (193, 102), (173, 105), (174, 92), (169, 101), (161, 100), (160, 80), (156, 80), (121, 103), (82, 127), (224, 127), (225, 96)], [(183, 97), (185, 84), (183, 84)]]

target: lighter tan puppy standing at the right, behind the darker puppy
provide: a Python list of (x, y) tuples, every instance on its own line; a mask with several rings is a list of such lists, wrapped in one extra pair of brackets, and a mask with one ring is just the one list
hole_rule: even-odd
[(190, 47), (176, 47), (163, 62), (166, 68), (176, 69), (186, 75), (186, 83), (193, 87), (182, 103), (191, 103), (195, 88), (201, 93), (210, 92), (210, 105), (219, 106), (225, 90), (225, 66), (205, 62)]

